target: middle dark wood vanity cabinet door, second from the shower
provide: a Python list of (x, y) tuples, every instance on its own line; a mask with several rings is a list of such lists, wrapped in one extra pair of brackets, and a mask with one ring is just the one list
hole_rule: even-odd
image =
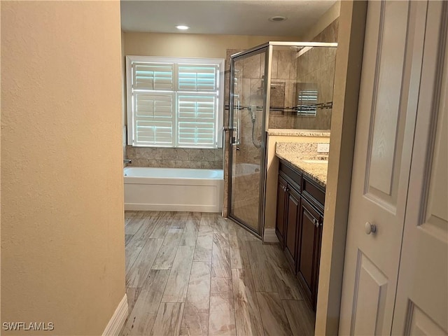
[(297, 228), (298, 214), (300, 206), (300, 195), (295, 190), (288, 188), (288, 202), (286, 204), (286, 234), (285, 234), (285, 253), (291, 267), (295, 271), (297, 258)]

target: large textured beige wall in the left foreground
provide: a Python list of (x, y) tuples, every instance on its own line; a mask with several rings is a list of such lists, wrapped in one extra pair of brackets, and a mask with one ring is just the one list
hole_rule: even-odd
[(20, 335), (125, 295), (120, 66), (118, 1), (1, 1), (1, 322), (55, 326)]

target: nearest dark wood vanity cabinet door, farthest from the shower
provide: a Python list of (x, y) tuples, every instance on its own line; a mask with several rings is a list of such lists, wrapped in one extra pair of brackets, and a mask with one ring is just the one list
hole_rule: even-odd
[(314, 285), (316, 277), (314, 271), (316, 268), (316, 252), (318, 252), (319, 218), (318, 212), (302, 197), (300, 204), (300, 244), (297, 260), (297, 275), (313, 307), (313, 291), (317, 290)]

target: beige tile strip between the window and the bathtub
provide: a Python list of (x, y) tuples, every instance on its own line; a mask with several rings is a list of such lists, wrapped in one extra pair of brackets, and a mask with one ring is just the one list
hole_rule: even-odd
[(127, 146), (130, 167), (223, 168), (223, 148), (148, 148)]

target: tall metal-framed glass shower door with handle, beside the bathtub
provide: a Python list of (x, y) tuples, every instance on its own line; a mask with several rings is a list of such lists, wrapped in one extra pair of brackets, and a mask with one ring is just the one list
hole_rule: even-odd
[[(229, 216), (260, 232), (260, 179), (264, 160), (265, 50), (234, 59), (230, 123)], [(233, 89), (233, 90), (232, 90)]]

